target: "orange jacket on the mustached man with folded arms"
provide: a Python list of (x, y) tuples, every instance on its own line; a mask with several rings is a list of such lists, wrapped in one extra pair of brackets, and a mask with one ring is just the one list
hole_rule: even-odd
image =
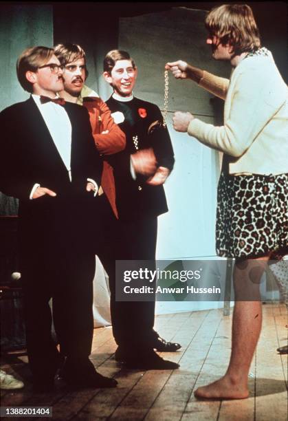
[[(89, 112), (93, 138), (100, 155), (103, 155), (103, 172), (101, 186), (111, 204), (111, 208), (118, 218), (118, 211), (115, 204), (115, 181), (113, 166), (109, 155), (123, 151), (126, 146), (126, 136), (115, 124), (108, 106), (102, 99), (87, 96), (83, 98), (83, 105)], [(103, 131), (109, 133), (102, 134)]]

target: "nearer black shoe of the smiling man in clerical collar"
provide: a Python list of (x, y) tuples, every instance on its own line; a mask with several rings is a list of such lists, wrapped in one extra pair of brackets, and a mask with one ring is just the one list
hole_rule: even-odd
[(129, 369), (141, 370), (175, 370), (179, 368), (179, 364), (164, 360), (153, 350), (126, 358), (124, 366)]

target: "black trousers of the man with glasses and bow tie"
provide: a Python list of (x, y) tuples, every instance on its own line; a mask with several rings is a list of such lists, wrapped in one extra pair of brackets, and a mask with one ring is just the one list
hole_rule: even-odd
[(69, 250), (32, 257), (21, 269), (27, 354), (34, 381), (52, 380), (60, 355), (52, 339), (52, 313), (61, 354), (87, 360), (93, 338), (93, 252)]

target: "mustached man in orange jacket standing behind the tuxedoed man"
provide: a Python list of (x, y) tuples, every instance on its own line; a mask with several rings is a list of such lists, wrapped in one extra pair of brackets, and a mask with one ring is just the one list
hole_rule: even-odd
[(83, 105), (89, 111), (93, 139), (103, 161), (98, 209), (94, 215), (93, 227), (91, 227), (94, 239), (93, 250), (109, 276), (109, 283), (115, 283), (115, 224), (118, 210), (115, 205), (113, 165), (115, 154), (125, 147), (126, 137), (115, 124), (105, 102), (95, 91), (84, 85), (88, 71), (86, 55), (82, 47), (65, 43), (56, 45), (54, 50), (65, 69), (63, 90), (59, 94), (66, 101)]

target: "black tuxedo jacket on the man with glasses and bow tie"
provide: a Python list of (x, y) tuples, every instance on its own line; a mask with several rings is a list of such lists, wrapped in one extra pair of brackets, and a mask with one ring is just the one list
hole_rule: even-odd
[[(89, 226), (95, 223), (97, 197), (86, 192), (87, 178), (100, 186), (102, 160), (87, 110), (69, 102), (65, 110), (72, 127), (71, 182), (32, 97), (0, 114), (0, 190), (20, 199), (19, 237), (24, 261), (60, 259), (61, 253), (75, 255), (91, 246)], [(57, 196), (30, 200), (35, 183)]]

